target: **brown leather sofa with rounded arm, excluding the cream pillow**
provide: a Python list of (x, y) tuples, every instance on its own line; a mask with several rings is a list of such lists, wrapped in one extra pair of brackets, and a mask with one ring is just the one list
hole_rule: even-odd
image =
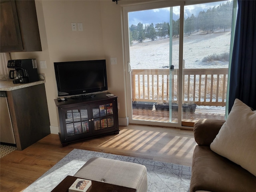
[(256, 176), (210, 149), (223, 123), (223, 120), (200, 119), (194, 124), (198, 145), (193, 154), (190, 192), (256, 192)]

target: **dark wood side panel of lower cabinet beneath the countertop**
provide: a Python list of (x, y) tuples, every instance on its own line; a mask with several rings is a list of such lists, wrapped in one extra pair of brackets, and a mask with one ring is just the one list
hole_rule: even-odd
[(6, 91), (17, 150), (50, 134), (44, 84)]

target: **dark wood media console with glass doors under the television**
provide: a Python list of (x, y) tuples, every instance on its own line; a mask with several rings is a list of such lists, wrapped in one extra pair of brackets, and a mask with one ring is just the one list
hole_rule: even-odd
[(106, 94), (110, 93), (60, 102), (54, 100), (58, 107), (62, 146), (85, 138), (119, 133), (117, 96)]

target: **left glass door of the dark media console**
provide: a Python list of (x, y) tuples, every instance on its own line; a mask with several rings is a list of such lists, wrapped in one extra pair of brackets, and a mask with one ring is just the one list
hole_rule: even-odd
[(88, 110), (86, 108), (65, 111), (67, 136), (89, 132)]

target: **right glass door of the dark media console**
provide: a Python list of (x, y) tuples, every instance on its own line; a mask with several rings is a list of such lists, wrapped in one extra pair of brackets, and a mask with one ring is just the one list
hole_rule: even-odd
[(102, 104), (92, 107), (94, 130), (102, 130), (114, 126), (113, 104)]

